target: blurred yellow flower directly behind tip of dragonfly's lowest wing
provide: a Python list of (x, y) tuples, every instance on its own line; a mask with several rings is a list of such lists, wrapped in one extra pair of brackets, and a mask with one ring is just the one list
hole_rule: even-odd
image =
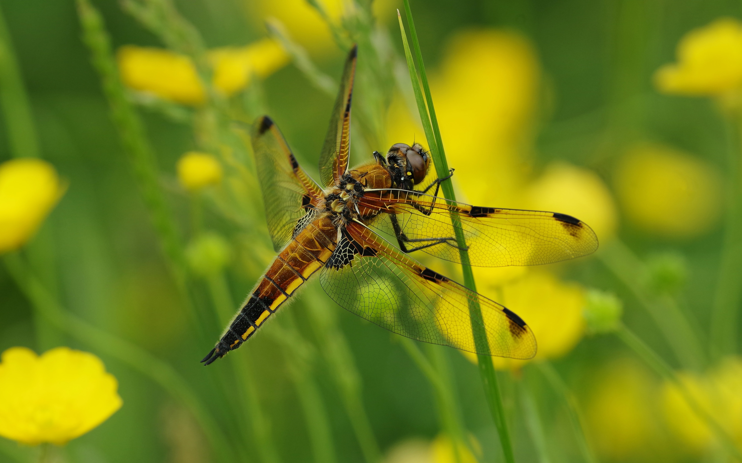
[[(518, 279), (497, 287), (477, 280), (485, 296), (517, 313), (533, 330), (539, 350), (534, 359), (557, 359), (568, 353), (585, 334), (585, 290), (577, 283), (561, 282), (542, 270), (531, 270)], [(464, 353), (477, 362), (476, 355)], [(513, 370), (529, 360), (493, 357), (499, 370)]]

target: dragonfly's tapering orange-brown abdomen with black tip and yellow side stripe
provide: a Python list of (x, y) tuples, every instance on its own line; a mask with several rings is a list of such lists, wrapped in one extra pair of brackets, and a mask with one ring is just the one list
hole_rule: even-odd
[(320, 218), (292, 239), (257, 282), (216, 347), (202, 362), (211, 364), (250, 339), (278, 307), (327, 262), (335, 250), (336, 234), (332, 221)]

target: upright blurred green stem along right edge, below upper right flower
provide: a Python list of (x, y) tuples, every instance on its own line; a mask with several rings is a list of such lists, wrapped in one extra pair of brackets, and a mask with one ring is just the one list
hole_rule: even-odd
[(737, 350), (737, 324), (742, 299), (742, 156), (738, 116), (726, 116), (726, 221), (712, 309), (712, 355), (715, 359)]

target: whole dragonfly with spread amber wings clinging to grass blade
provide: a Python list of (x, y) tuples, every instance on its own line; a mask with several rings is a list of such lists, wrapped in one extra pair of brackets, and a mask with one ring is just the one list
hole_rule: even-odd
[[(441, 181), (453, 172), (423, 189), (431, 156), (421, 144), (394, 144), (386, 156), (375, 151), (372, 160), (349, 169), (357, 54), (353, 47), (332, 110), (319, 160), (321, 184), (302, 169), (269, 116), (252, 125), (257, 176), (278, 256), (201, 362), (211, 364), (240, 347), (315, 274), (341, 307), (393, 333), (531, 359), (536, 338), (521, 317), (410, 253), (461, 263), (465, 251), (471, 265), (483, 267), (548, 264), (594, 252), (595, 233), (562, 213), (439, 198)], [(472, 307), (479, 307), (481, 317), (471, 316)]]

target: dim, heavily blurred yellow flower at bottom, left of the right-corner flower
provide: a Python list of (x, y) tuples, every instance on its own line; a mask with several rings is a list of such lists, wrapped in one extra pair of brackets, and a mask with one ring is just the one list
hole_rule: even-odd
[(655, 410), (657, 383), (642, 367), (616, 359), (597, 373), (585, 419), (599, 456), (613, 462), (657, 462), (669, 452)]

